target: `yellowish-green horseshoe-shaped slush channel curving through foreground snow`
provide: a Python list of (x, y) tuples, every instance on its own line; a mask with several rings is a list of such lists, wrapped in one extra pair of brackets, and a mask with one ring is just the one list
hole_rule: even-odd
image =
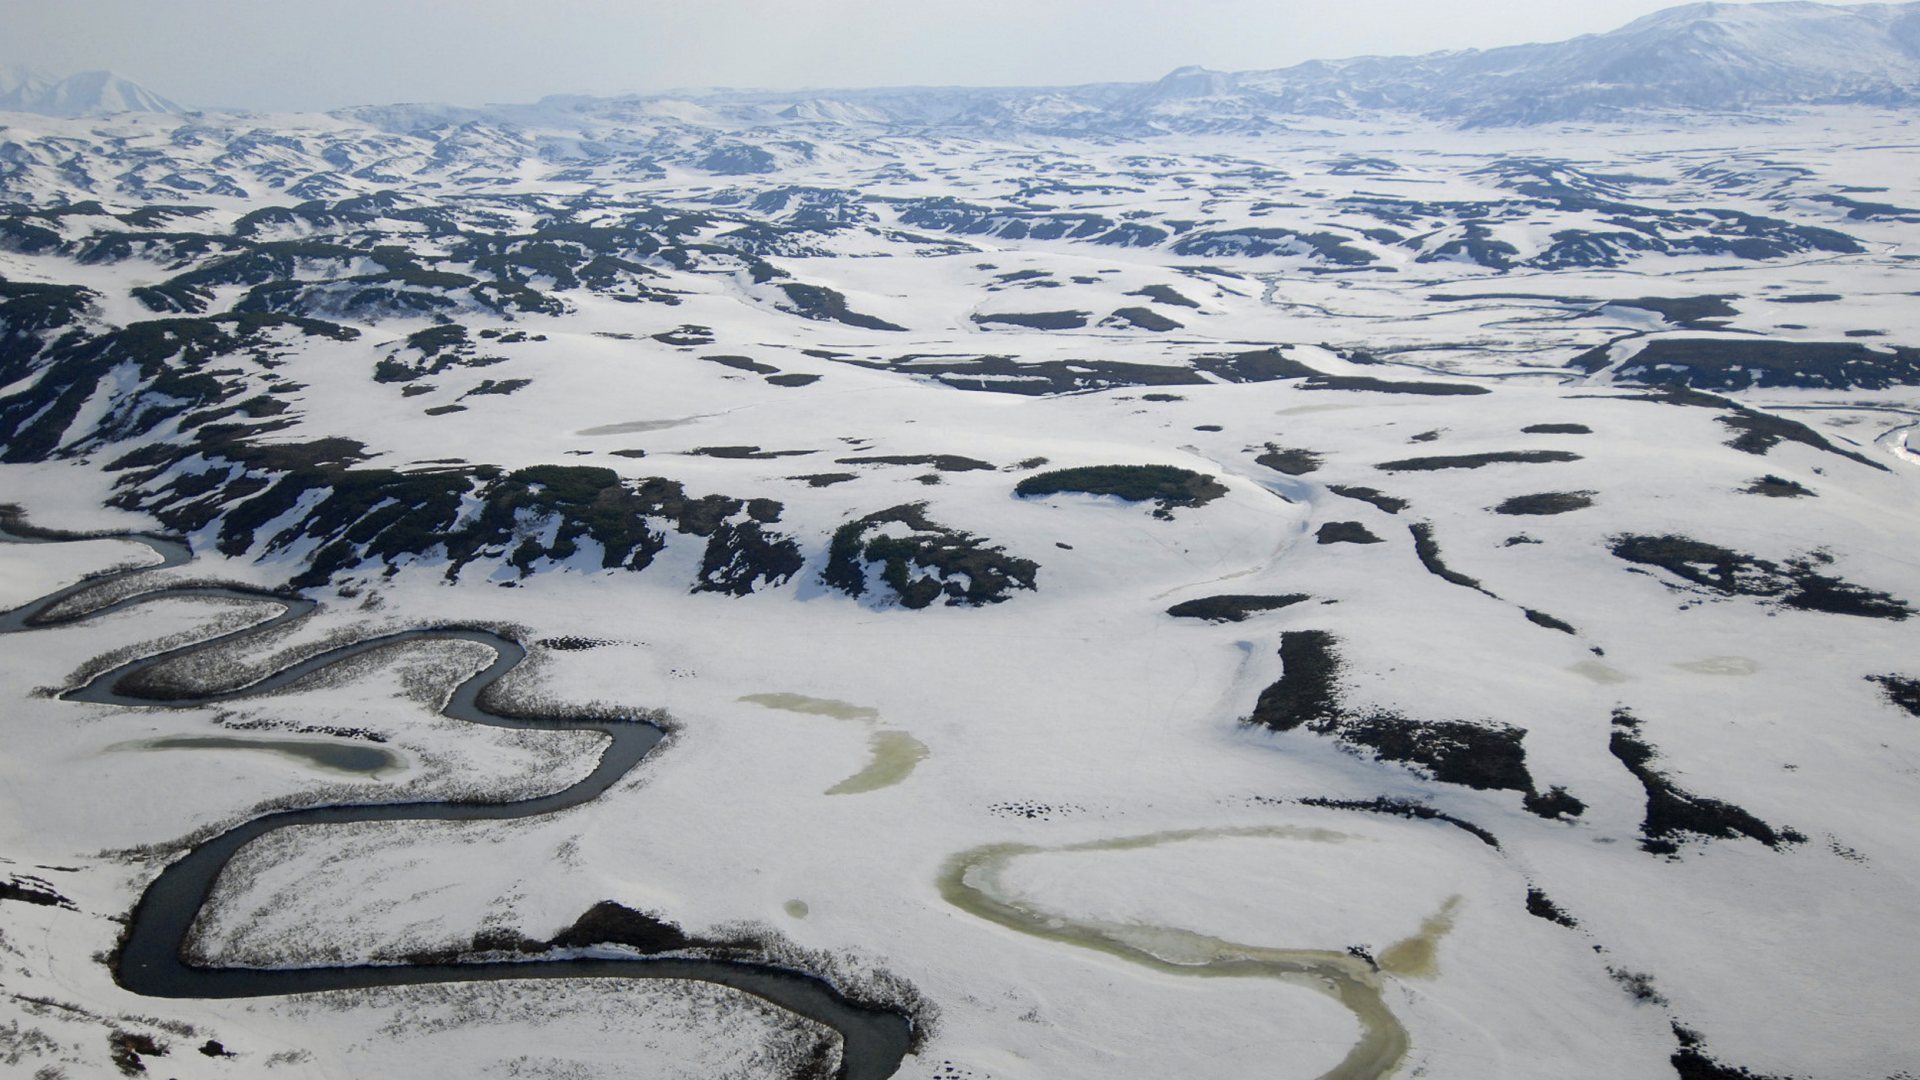
[[(1094, 949), (1158, 972), (1202, 978), (1275, 978), (1327, 994), (1359, 1020), (1359, 1042), (1354, 1043), (1354, 1049), (1348, 1051), (1340, 1065), (1323, 1072), (1319, 1080), (1382, 1080), (1392, 1076), (1407, 1055), (1407, 1030), (1394, 1017), (1392, 1009), (1386, 1007), (1380, 995), (1379, 972), (1359, 957), (1331, 949), (1244, 945), (1173, 926), (1075, 920), (1016, 897), (1002, 884), (1006, 869), (1016, 859), (1027, 855), (1048, 851), (1133, 851), (1162, 844), (1213, 838), (1271, 838), (1319, 844), (1356, 840), (1329, 828), (1248, 826), (1187, 828), (1123, 836), (1117, 840), (1064, 844), (1058, 847), (987, 844), (950, 857), (941, 871), (939, 890), (947, 903), (1008, 930), (1081, 949)], [(1442, 913), (1452, 917), (1453, 903), (1448, 901)]]

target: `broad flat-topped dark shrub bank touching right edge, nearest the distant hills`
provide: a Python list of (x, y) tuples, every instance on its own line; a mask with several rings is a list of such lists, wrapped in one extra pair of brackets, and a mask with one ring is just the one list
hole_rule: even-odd
[(1695, 390), (1920, 386), (1920, 350), (1859, 342), (1766, 338), (1657, 338), (1615, 373), (1620, 382), (1676, 382)]

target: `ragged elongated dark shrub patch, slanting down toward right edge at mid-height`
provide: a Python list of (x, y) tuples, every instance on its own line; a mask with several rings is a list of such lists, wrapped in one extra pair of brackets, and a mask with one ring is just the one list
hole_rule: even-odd
[[(1832, 615), (1860, 615), (1866, 619), (1903, 621), (1912, 615), (1905, 600), (1885, 592), (1845, 582), (1820, 571), (1834, 559), (1824, 552), (1811, 552), (1774, 563), (1716, 544), (1705, 544), (1688, 536), (1638, 536), (1622, 534), (1609, 540), (1615, 557), (1628, 563), (1659, 567), (1678, 577), (1695, 590), (1718, 596), (1751, 596), (1772, 600), (1782, 607), (1799, 611), (1826, 611)], [(1668, 588), (1672, 582), (1668, 582)], [(1684, 588), (1684, 586), (1678, 586)]]

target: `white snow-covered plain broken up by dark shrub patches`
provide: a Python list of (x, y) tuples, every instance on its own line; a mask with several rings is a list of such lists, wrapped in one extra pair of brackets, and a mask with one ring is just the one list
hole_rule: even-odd
[[(931, 1003), (918, 1015), (925, 1040), (900, 1067), (912, 1078), (1601, 1080), (1668, 1076), (1690, 1040), (1755, 1076), (1920, 1072), (1920, 721), (1870, 682), (1920, 676), (1920, 623), (1901, 617), (1901, 601), (1920, 601), (1920, 475), (1905, 448), (1920, 390), (1905, 377), (1736, 377), (1730, 388), (1695, 382), (1728, 400), (1676, 404), (1649, 400), (1645, 386), (1665, 379), (1630, 371), (1663, 340), (1857, 342), (1866, 363), (1897, 367), (1905, 354), (1882, 346), (1920, 342), (1920, 211), (1899, 209), (1920, 204), (1920, 144), (1903, 113), (1667, 131), (1315, 121), (1258, 140), (1117, 144), (812, 133), (804, 152), (768, 142), (772, 165), (749, 175), (701, 167), (708, 146), (685, 150), (678, 127), (649, 135), (639, 167), (637, 150), (566, 160), (553, 131), (467, 131), (459, 138), (492, 142), (461, 156), (447, 131), (340, 117), (6, 125), (21, 148), (10, 198), (104, 204), (35, 219), (54, 244), (15, 233), (0, 246), (4, 282), (90, 290), (71, 327), (83, 336), (156, 319), (134, 290), (223, 258), (217, 244), (152, 238), (146, 254), (81, 258), (104, 234), (159, 231), (109, 217), (144, 204), (204, 208), (167, 221), (169, 234), (399, 244), (472, 277), (486, 275), (463, 236), (647, 209), (703, 215), (680, 256), (626, 256), (643, 269), (622, 281), (651, 296), (528, 261), (516, 284), (553, 309), (501, 311), (442, 284), (422, 286), (451, 296), (428, 313), (319, 298), (300, 313), (357, 336), (282, 325), (259, 348), (217, 356), (223, 400), (288, 405), (246, 413), (265, 423), (242, 446), (334, 438), (363, 454), (228, 553), (225, 523), (259, 490), (234, 477), (275, 480), (276, 467), (252, 459), (192, 486), (213, 475), (213, 442), (179, 415), (138, 429), (140, 407), (179, 398), (134, 359), (111, 367), (50, 446), (10, 450), (0, 503), (36, 527), (98, 532), (182, 528), (190, 515), (167, 513), (200, 492), (225, 500), (184, 527), (196, 561), (134, 580), (284, 586), (348, 532), (282, 530), (319, 519), (344, 475), (374, 469), (591, 465), (674, 480), (689, 498), (778, 500), (764, 525), (803, 559), (749, 578), (745, 596), (689, 592), (707, 575), (705, 534), (659, 519), (664, 548), (651, 565), (607, 569), (601, 542), (557, 550), (564, 521), (526, 505), (509, 521), (515, 542), (538, 540), (530, 557), (484, 546), (455, 580), (445, 540), (388, 555), (355, 548), (307, 588), (323, 601), (309, 621), (194, 678), (263, 673), (313, 642), (399, 626), (513, 626), (538, 659), (515, 694), (659, 707), (678, 728), (572, 811), (273, 834), (236, 859), (202, 915), (198, 963), (399, 963), (472, 949), (482, 930), (545, 942), (612, 899), (693, 936), (758, 940), (854, 994), (910, 984)], [(301, 183), (307, 194), (288, 190)], [(1822, 198), (1843, 192), (1891, 209), (1857, 215)], [(311, 213), (259, 213), (305, 198)], [(839, 223), (795, 217), (806, 206)], [(1749, 221), (1740, 229), (1764, 236), (1734, 236), (1724, 213), (1801, 233)], [(1035, 236), (1071, 215), (1106, 225)], [(1127, 221), (1160, 238), (1094, 242)], [(766, 233), (749, 233), (755, 223)], [(1273, 231), (1271, 250), (1250, 250), (1246, 238), (1261, 238), (1250, 229)], [(1555, 256), (1569, 231), (1615, 236), (1617, 258)], [(1620, 234), (1659, 236), (1665, 250), (1620, 246)], [(372, 265), (340, 263), (353, 259), (300, 256), (271, 281), (324, 286)], [(841, 311), (895, 329), (808, 317), (787, 282), (829, 288)], [(175, 313), (219, 315), (259, 284), (219, 281), (202, 307)], [(1112, 317), (1142, 307), (1177, 327)], [(1060, 311), (1085, 317), (1068, 329), (991, 321)], [(465, 359), (376, 379), (396, 356), (426, 367), (434, 357), (409, 338), (447, 323), (467, 332)], [(1325, 379), (1240, 379), (1213, 363), (1271, 346)], [(1601, 361), (1576, 365), (1594, 350)], [(61, 379), (56, 352), (10, 367), (0, 404)], [(186, 369), (186, 356), (161, 367)], [(975, 357), (1012, 367), (954, 367)], [(1033, 392), (1048, 379), (1066, 382)], [(1008, 386), (1025, 392), (993, 392)], [(42, 415), (8, 413), (0, 434), (25, 446)], [(1751, 417), (1805, 427), (1759, 452), (1730, 446)], [(117, 465), (142, 446), (205, 450), (148, 477)], [(1283, 457), (1286, 469), (1258, 461), (1283, 450), (1308, 454)], [(1409, 463), (1486, 454), (1523, 457)], [(1154, 515), (1116, 496), (1014, 490), (1100, 465), (1171, 465), (1223, 492)], [(484, 482), (465, 492), (461, 523), (484, 517)], [(138, 500), (104, 505), (129, 490)], [(1494, 509), (1540, 494), (1582, 498), (1563, 513)], [(1033, 588), (908, 609), (877, 565), (858, 567), (862, 596), (831, 588), (835, 532), (902, 503), (1037, 563)], [(1379, 542), (1323, 532), (1340, 523)], [(1428, 527), (1438, 553), (1413, 525)], [(914, 532), (897, 521), (879, 530)], [(1862, 615), (1795, 607), (1786, 586), (1715, 590), (1617, 555), (1628, 536), (1686, 536), (1776, 571), (1801, 559), (1807, 575), (1885, 601)], [(138, 557), (102, 540), (0, 548), (0, 603), (129, 552)], [(1693, 555), (1684, 563), (1705, 565)], [(1740, 580), (1755, 575), (1764, 567)], [(1167, 613), (1221, 594), (1308, 600), (1238, 623)], [(102, 961), (117, 919), (182, 838), (284, 799), (526, 798), (591, 767), (586, 736), (438, 717), (445, 690), (482, 663), (455, 646), (409, 646), (230, 707), (35, 692), (79, 682), (100, 655), (259, 617), (165, 600), (0, 646), (0, 880), (36, 878), (67, 901), (0, 897), (10, 1068), (109, 1074), (113, 1032), (157, 1038), (169, 1053), (148, 1068), (182, 1080), (766, 1076), (820, 1061), (818, 1028), (699, 984), (265, 1001), (117, 988)], [(1338, 642), (1350, 717), (1524, 728), (1530, 786), (1565, 788), (1584, 807), (1542, 815), (1515, 786), (1379, 759), (1379, 742), (1242, 723), (1290, 675), (1283, 634), (1306, 630)], [(795, 707), (808, 701), (849, 707)], [(250, 730), (378, 738), (407, 769), (344, 778), (250, 751), (125, 749)], [(1653, 830), (1622, 738), (1653, 748), (1644, 769), (1682, 801), (1738, 807), (1776, 842)], [(887, 776), (897, 782), (847, 784), (883, 744), (924, 757)], [(1356, 809), (1375, 799), (1402, 813)], [(1012, 851), (995, 846), (1018, 857), (968, 882), (1044, 913), (1044, 932), (983, 919), (943, 890), (966, 853)], [(1098, 945), (1121, 938), (1133, 951)], [(1194, 942), (1210, 945), (1196, 953)], [(1346, 963), (1405, 1030), (1405, 1057), (1340, 1072), (1361, 1024), (1327, 980), (1231, 969), (1279, 953)], [(205, 1040), (232, 1057), (196, 1053)]]

